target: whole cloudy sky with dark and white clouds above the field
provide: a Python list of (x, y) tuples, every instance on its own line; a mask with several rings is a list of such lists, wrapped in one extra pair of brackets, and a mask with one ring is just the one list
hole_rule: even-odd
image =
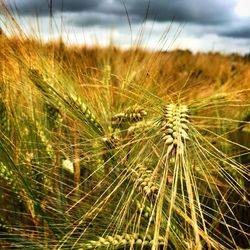
[(112, 39), (123, 47), (140, 43), (162, 50), (250, 52), (250, 0), (5, 2), (17, 10), (19, 23), (27, 33), (34, 33), (39, 26), (39, 35), (45, 39), (61, 34), (70, 43), (107, 45)]

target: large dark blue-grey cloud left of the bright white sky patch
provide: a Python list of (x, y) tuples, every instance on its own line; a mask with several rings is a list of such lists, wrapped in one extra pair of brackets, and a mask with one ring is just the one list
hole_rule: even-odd
[[(129, 0), (129, 13), (145, 15), (147, 0)], [(156, 21), (174, 21), (217, 24), (232, 18), (233, 0), (165, 0), (151, 1), (148, 18)]]

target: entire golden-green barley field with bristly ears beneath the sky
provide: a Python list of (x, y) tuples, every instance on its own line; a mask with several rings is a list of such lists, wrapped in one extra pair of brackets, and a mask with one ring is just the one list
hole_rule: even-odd
[(1, 247), (250, 247), (249, 56), (2, 33), (0, 72)]

